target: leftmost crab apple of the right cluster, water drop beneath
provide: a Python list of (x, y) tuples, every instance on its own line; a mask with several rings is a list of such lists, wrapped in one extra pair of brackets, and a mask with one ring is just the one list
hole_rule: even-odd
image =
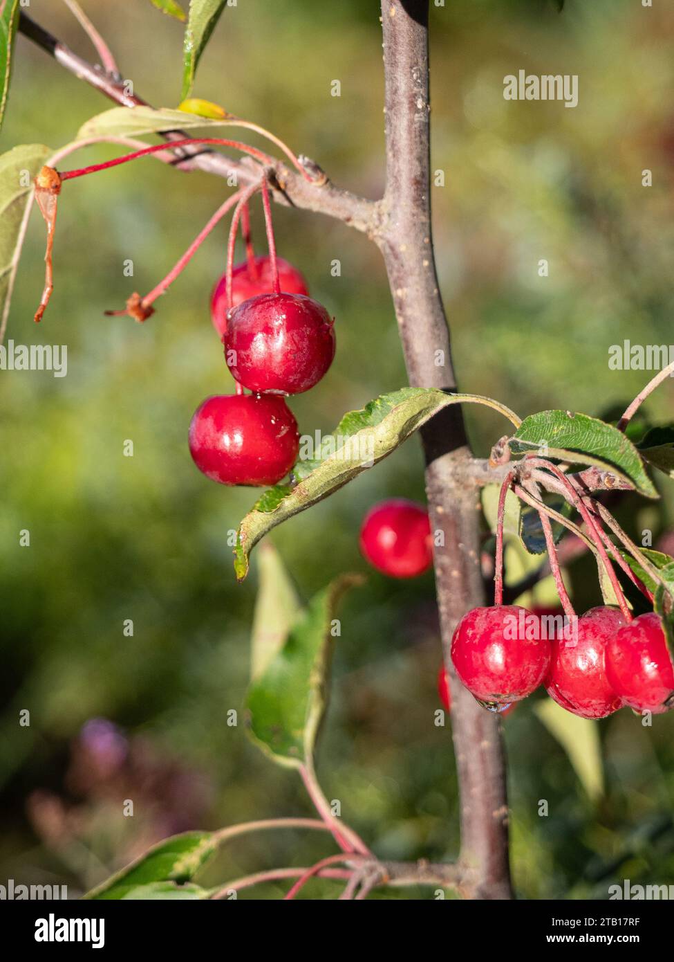
[(519, 605), (473, 608), (454, 631), (454, 668), (468, 691), (490, 707), (531, 695), (548, 671), (550, 643), (520, 637), (522, 617), (535, 618)]

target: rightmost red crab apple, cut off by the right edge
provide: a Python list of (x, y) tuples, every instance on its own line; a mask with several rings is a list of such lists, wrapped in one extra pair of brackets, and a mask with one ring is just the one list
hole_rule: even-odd
[(615, 635), (606, 651), (606, 671), (616, 694), (637, 712), (662, 715), (674, 693), (674, 666), (655, 612), (639, 615)]

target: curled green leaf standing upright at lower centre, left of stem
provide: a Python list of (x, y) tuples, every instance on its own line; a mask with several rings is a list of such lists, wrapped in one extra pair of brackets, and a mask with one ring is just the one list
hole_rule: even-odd
[(249, 734), (280, 765), (298, 768), (312, 757), (328, 702), (332, 621), (341, 595), (359, 584), (362, 577), (345, 574), (314, 595), (248, 689)]

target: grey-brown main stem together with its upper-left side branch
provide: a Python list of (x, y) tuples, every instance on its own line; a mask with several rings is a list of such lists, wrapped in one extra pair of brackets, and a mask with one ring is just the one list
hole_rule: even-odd
[[(336, 217), (378, 243), (387, 266), (410, 383), (454, 391), (449, 331), (431, 234), (428, 0), (383, 0), (382, 14), (387, 111), (384, 199), (367, 200), (338, 189), (327, 179), (321, 186), (312, 185), (282, 162), (273, 166), (271, 187), (277, 202)], [(24, 13), (19, 31), (115, 103), (145, 105), (124, 83), (74, 54)], [(169, 142), (184, 137), (181, 132), (163, 136)], [(247, 159), (190, 148), (181, 148), (176, 156), (182, 169), (221, 177), (235, 174), (238, 186), (260, 178), (259, 166)], [(307, 169), (319, 169), (312, 161), (303, 159), (303, 163)], [(458, 683), (449, 657), (457, 621), (485, 600), (476, 479), (461, 408), (447, 407), (421, 434), (431, 521), (434, 530), (444, 533), (444, 547), (436, 549), (435, 557), (437, 600), (455, 705), (452, 728), (462, 796), (461, 868), (428, 867), (423, 877), (433, 884), (456, 884), (460, 873), (463, 890), (471, 897), (508, 899), (512, 897), (508, 807), (499, 720)], [(486, 473), (481, 471), (481, 476)], [(392, 867), (387, 871), (392, 884), (420, 881), (419, 871), (407, 881), (409, 867), (399, 873)], [(446, 881), (449, 876), (452, 881)]]

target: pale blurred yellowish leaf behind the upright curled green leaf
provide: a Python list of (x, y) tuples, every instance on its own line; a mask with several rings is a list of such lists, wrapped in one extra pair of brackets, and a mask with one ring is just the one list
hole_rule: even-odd
[(251, 636), (251, 678), (260, 677), (279, 653), (290, 625), (300, 611), (287, 568), (272, 544), (260, 546), (260, 586), (255, 601)]

